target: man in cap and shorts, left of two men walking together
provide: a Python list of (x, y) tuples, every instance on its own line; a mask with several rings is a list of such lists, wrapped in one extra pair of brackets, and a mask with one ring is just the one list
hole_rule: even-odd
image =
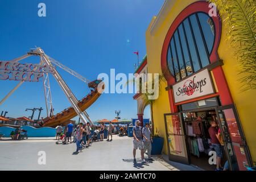
[(143, 150), (144, 146), (142, 141), (142, 127), (139, 120), (135, 121), (135, 126), (133, 127), (133, 137), (133, 162), (136, 163), (136, 150), (139, 148), (139, 150), (141, 150), (142, 163), (145, 163)]

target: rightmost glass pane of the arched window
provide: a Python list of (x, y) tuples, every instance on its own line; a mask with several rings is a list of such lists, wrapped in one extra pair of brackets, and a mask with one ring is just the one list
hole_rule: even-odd
[(212, 19), (207, 14), (199, 13), (198, 16), (202, 30), (204, 32), (205, 42), (207, 43), (207, 48), (210, 53), (212, 52), (214, 42), (214, 24), (212, 22)]

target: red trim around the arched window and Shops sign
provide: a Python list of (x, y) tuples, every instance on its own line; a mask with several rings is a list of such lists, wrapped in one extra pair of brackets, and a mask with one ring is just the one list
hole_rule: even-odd
[[(183, 22), (183, 20), (187, 18), (189, 15), (196, 12), (204, 12), (208, 14), (209, 10), (210, 10), (209, 3), (206, 1), (199, 1), (199, 2), (192, 3), (191, 5), (187, 6), (183, 11), (181, 11), (181, 13), (176, 17), (176, 19), (170, 26), (167, 32), (166, 38), (164, 39), (162, 55), (161, 55), (162, 72), (164, 73), (164, 77), (166, 78), (168, 85), (175, 84), (175, 78), (171, 75), (170, 71), (166, 71), (166, 70), (169, 70), (167, 65), (167, 51), (168, 51), (168, 45), (170, 43), (172, 35), (174, 35), (174, 32), (176, 28), (179, 26), (179, 24)], [(217, 17), (213, 16), (212, 20), (215, 27), (215, 40), (214, 40), (212, 53), (210, 54), (210, 63), (214, 63), (219, 60), (217, 50), (218, 50), (218, 46), (220, 44), (220, 39), (221, 39), (221, 19), (219, 16)], [(232, 96), (230, 94), (229, 87), (226, 82), (226, 78), (222, 70), (222, 67), (221, 66), (216, 67), (212, 70), (212, 72), (215, 78), (214, 80), (216, 81), (216, 85), (218, 88), (218, 95), (221, 98), (222, 105), (233, 104)], [(174, 102), (172, 89), (168, 90), (168, 95), (169, 95), (171, 112), (175, 113), (177, 111), (177, 106), (175, 105), (175, 102)], [(214, 97), (214, 95), (212, 96)], [(195, 100), (189, 100), (188, 102), (202, 100), (203, 98), (204, 97), (200, 97)]]

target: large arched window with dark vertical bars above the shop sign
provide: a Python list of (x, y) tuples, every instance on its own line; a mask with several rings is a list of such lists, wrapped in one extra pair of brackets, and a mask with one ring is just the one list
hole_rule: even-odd
[(206, 13), (189, 15), (179, 24), (167, 51), (167, 65), (175, 81), (210, 64), (214, 39), (214, 23)]

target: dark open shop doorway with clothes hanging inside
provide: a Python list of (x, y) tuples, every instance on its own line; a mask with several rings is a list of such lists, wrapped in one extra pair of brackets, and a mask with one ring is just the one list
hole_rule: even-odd
[[(216, 169), (216, 165), (209, 164), (209, 152), (213, 150), (210, 145), (209, 127), (210, 122), (217, 122), (216, 110), (208, 109), (203, 111), (183, 111), (181, 117), (185, 126), (185, 140), (187, 142), (187, 152), (190, 163), (196, 167), (207, 171)], [(222, 147), (224, 166), (227, 158)]]

